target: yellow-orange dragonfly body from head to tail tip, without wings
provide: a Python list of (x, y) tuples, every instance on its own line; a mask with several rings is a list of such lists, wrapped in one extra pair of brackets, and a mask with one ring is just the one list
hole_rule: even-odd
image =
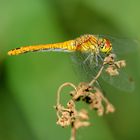
[(18, 55), (26, 52), (34, 51), (67, 51), (67, 52), (84, 52), (99, 55), (100, 52), (108, 53), (112, 49), (112, 44), (108, 39), (99, 38), (95, 35), (83, 35), (62, 43), (27, 46), (13, 49), (8, 52), (8, 55)]

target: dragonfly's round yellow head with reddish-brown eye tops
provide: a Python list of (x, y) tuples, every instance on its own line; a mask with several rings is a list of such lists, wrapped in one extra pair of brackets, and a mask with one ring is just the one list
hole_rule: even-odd
[(102, 53), (109, 53), (112, 50), (111, 42), (105, 38), (100, 38), (98, 40), (98, 46), (99, 46), (100, 52)]

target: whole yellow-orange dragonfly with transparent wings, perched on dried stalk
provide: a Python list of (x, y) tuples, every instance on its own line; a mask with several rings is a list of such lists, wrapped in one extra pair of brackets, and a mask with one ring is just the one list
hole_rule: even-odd
[[(8, 55), (19, 55), (38, 51), (69, 52), (74, 54), (72, 58), (84, 75), (92, 79), (97, 74), (102, 66), (103, 59), (108, 54), (113, 52), (119, 56), (120, 53), (125, 53), (126, 51), (131, 52), (137, 45), (137, 42), (132, 40), (121, 40), (120, 38), (117, 39), (110, 36), (87, 34), (61, 43), (15, 48), (10, 50)], [(103, 72), (101, 78), (119, 90), (126, 92), (132, 92), (134, 90), (135, 84), (133, 80), (122, 70), (119, 72), (119, 76), (110, 76)]]

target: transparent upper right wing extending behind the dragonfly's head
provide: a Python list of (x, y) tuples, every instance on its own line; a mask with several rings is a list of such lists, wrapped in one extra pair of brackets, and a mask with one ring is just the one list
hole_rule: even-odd
[(140, 48), (138, 40), (112, 37), (109, 35), (99, 35), (99, 37), (107, 38), (112, 43), (113, 52), (116, 55), (136, 52)]

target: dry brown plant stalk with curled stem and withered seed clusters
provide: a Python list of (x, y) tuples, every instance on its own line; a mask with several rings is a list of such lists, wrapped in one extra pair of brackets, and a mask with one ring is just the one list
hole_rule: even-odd
[[(105, 65), (107, 68), (105, 69)], [(103, 69), (110, 76), (119, 75), (118, 69), (125, 67), (126, 63), (124, 60), (115, 61), (115, 54), (109, 54), (105, 57), (102, 67), (98, 71), (97, 75), (89, 83), (81, 82), (78, 86), (73, 83), (62, 84), (57, 91), (57, 104), (55, 106), (57, 112), (57, 124), (66, 127), (71, 126), (71, 138), (70, 140), (76, 139), (76, 130), (80, 127), (89, 126), (89, 116), (85, 109), (77, 110), (76, 102), (84, 101), (89, 104), (92, 110), (97, 111), (97, 115), (102, 116), (103, 114), (113, 113), (115, 111), (114, 106), (109, 100), (103, 95), (102, 91), (95, 86), (98, 78), (102, 74)], [(70, 91), (71, 99), (67, 102), (66, 107), (60, 103), (60, 94), (62, 89), (66, 86), (72, 87), (74, 90)]]

